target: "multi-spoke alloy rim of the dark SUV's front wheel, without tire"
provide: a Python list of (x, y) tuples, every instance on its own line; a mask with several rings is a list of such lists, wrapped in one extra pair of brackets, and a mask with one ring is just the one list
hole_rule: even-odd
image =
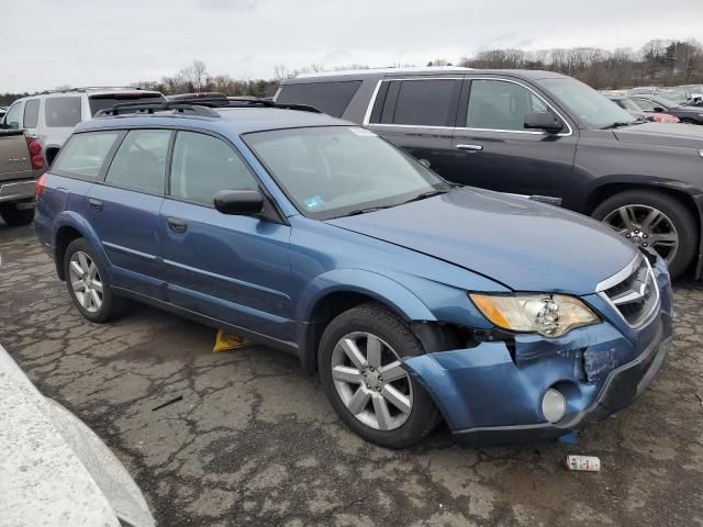
[(663, 212), (649, 205), (624, 205), (603, 222), (639, 247), (651, 247), (670, 264), (679, 249), (679, 233)]

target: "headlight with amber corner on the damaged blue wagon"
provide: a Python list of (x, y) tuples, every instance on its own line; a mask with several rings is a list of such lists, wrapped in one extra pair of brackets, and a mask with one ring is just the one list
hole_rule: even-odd
[(563, 294), (469, 294), (489, 321), (503, 329), (558, 337), (569, 329), (599, 322), (583, 302)]

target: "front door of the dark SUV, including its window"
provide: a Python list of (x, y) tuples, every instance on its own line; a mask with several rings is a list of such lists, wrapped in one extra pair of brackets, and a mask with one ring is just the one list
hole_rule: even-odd
[[(468, 76), (451, 139), (451, 181), (560, 203), (571, 181), (578, 135), (533, 87)], [(529, 113), (550, 112), (559, 133), (525, 130)]]

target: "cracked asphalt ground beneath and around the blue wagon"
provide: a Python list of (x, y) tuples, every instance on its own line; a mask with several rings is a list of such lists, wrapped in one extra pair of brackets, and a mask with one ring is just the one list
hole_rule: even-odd
[[(440, 427), (391, 451), (347, 430), (291, 357), (213, 354), (213, 329), (138, 304), (88, 323), (31, 226), (0, 222), (0, 344), (110, 446), (160, 526), (703, 526), (703, 283), (677, 284), (650, 389), (578, 445), (471, 450)], [(566, 453), (602, 470), (569, 472)]]

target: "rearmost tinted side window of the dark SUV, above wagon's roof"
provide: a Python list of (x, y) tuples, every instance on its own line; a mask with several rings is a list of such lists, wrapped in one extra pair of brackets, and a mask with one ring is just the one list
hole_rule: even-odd
[(361, 86), (360, 80), (286, 85), (276, 102), (308, 104), (333, 117), (341, 117)]

